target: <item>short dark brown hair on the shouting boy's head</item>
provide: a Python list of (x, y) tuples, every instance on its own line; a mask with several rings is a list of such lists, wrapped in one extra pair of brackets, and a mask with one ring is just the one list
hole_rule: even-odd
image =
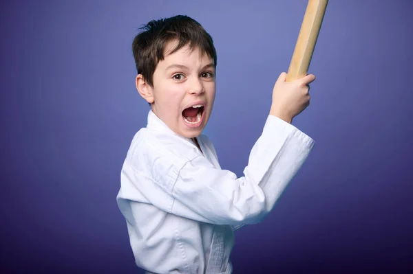
[(208, 54), (217, 65), (217, 54), (213, 39), (200, 23), (189, 16), (177, 15), (166, 19), (153, 20), (140, 28), (132, 43), (136, 70), (153, 87), (153, 72), (158, 62), (165, 58), (165, 47), (171, 41), (177, 41), (170, 54), (189, 45), (198, 48), (201, 54)]

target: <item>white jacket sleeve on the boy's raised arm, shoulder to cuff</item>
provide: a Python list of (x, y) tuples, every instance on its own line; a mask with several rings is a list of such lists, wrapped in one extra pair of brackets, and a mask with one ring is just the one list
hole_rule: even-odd
[[(269, 116), (251, 150), (244, 176), (215, 168), (198, 156), (158, 182), (171, 196), (171, 214), (217, 225), (261, 222), (308, 157), (314, 141), (295, 126)], [(171, 161), (169, 166), (176, 165)]]

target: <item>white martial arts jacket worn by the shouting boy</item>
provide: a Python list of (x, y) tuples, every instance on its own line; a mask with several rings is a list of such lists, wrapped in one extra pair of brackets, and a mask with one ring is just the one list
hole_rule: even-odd
[(222, 170), (211, 141), (173, 133), (152, 111), (131, 141), (118, 207), (148, 273), (232, 273), (233, 230), (268, 216), (313, 139), (268, 115), (244, 176)]

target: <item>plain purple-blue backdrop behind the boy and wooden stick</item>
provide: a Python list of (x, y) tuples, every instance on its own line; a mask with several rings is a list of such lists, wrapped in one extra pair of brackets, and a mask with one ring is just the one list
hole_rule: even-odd
[[(134, 87), (136, 28), (187, 14), (211, 33), (204, 133), (242, 175), (307, 1), (5, 2), (1, 273), (140, 273), (115, 200), (149, 110)], [(236, 232), (235, 273), (413, 271), (412, 12), (410, 0), (330, 1), (311, 104), (293, 121), (315, 148), (273, 214)]]

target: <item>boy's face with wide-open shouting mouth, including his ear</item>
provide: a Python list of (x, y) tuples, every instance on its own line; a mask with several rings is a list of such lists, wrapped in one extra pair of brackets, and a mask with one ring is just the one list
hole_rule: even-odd
[(215, 100), (213, 60), (189, 46), (169, 54), (171, 45), (153, 73), (153, 87), (140, 86), (140, 76), (136, 84), (153, 113), (171, 130), (183, 137), (197, 137), (207, 125)]

